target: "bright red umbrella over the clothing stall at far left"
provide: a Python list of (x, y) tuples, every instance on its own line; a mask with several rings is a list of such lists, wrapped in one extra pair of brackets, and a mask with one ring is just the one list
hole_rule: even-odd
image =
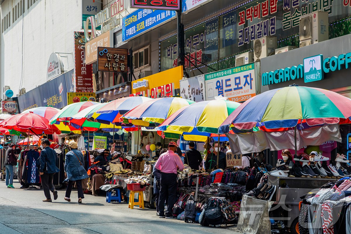
[(34, 114), (33, 112), (13, 115), (10, 118), (0, 122), (0, 127), (24, 132), (29, 134), (40, 135), (59, 133), (60, 131), (54, 125), (49, 125), (49, 121), (44, 117)]

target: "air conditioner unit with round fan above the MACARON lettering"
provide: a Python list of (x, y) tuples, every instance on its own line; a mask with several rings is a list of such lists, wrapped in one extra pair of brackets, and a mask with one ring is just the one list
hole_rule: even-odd
[(275, 53), (277, 48), (276, 36), (264, 36), (253, 42), (254, 61), (259, 62), (262, 58)]

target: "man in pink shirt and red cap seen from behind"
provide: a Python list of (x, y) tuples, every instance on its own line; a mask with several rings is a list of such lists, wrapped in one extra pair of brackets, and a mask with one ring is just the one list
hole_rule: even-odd
[[(168, 151), (161, 154), (160, 158), (155, 163), (156, 169), (161, 171), (160, 179), (160, 198), (158, 207), (160, 207), (159, 218), (177, 219), (173, 216), (173, 206), (177, 200), (177, 170), (183, 171), (183, 162), (179, 155), (174, 153), (177, 151), (177, 143), (171, 141), (168, 144)], [(164, 213), (164, 202), (168, 196), (167, 212)]]

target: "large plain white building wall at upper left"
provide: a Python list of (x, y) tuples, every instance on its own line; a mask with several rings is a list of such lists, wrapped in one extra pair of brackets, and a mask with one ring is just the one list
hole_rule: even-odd
[(61, 54), (67, 56), (62, 57), (64, 69), (74, 67), (73, 32), (81, 30), (81, 1), (37, 0), (27, 9), (28, 1), (24, 0), (25, 13), (12, 23), (12, 8), (19, 1), (5, 0), (0, 6), (1, 19), (11, 11), (11, 26), (0, 35), (0, 98), (4, 85), (16, 95), (20, 88), (28, 92), (45, 83), (53, 52), (69, 53)]

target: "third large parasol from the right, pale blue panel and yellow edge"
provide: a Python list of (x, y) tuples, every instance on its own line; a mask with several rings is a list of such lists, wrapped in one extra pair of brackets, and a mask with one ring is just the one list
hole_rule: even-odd
[[(150, 122), (162, 123), (180, 108), (192, 103), (194, 101), (179, 97), (157, 98), (141, 103), (123, 115), (123, 118), (130, 119), (134, 125), (149, 126)], [(119, 122), (119, 120), (114, 119), (113, 122)]]

